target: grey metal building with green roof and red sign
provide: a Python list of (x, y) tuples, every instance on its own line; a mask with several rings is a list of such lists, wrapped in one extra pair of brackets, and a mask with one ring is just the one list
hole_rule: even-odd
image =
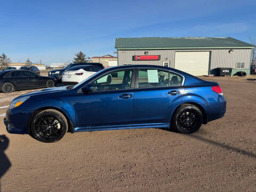
[(116, 38), (118, 65), (172, 67), (192, 75), (210, 75), (219, 67), (250, 74), (254, 45), (231, 37)]

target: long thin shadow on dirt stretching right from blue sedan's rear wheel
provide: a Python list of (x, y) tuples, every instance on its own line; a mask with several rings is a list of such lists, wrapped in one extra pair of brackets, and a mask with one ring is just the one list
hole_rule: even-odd
[[(173, 129), (173, 128), (171, 128), (171, 129), (162, 129), (162, 130), (178, 133), (178, 131), (176, 131), (176, 130)], [(180, 133), (180, 134), (181, 134), (181, 133)], [(185, 135), (186, 135), (187, 137), (195, 138), (195, 139), (197, 139), (197, 140), (201, 140), (201, 141), (210, 143), (211, 145), (215, 145), (215, 146), (221, 147), (221, 148), (223, 148), (223, 149), (233, 150), (233, 151), (235, 151), (236, 153), (240, 153), (240, 154), (243, 154), (243, 155), (245, 155), (245, 156), (247, 156), (247, 157), (251, 157), (251, 158), (253, 158), (253, 159), (256, 159), (256, 154), (250, 153), (249, 151), (246, 151), (246, 150), (243, 150), (243, 149), (239, 149), (239, 148), (237, 148), (237, 147), (232, 147), (232, 146), (226, 145), (226, 144), (221, 143), (221, 142), (217, 142), (217, 141), (213, 141), (213, 140), (211, 140), (211, 139), (204, 138), (204, 137), (202, 137), (201, 135), (198, 135), (198, 133), (191, 133), (191, 134), (185, 134)]]

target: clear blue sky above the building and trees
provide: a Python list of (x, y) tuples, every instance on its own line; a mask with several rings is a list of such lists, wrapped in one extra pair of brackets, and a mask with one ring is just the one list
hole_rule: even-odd
[(256, 39), (256, 1), (2, 1), (0, 53), (13, 62), (113, 54), (116, 37)]

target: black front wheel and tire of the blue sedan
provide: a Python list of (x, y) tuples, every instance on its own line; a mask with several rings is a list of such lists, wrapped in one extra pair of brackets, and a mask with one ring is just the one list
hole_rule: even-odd
[(59, 141), (68, 131), (66, 117), (55, 109), (46, 109), (35, 115), (31, 121), (30, 134), (41, 142)]

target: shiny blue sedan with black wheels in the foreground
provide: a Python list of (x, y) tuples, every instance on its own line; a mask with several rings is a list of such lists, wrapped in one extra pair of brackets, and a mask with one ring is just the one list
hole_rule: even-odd
[(225, 112), (216, 82), (162, 66), (130, 65), (103, 69), (75, 86), (21, 95), (4, 123), (9, 133), (56, 142), (67, 131), (173, 127), (193, 133)]

